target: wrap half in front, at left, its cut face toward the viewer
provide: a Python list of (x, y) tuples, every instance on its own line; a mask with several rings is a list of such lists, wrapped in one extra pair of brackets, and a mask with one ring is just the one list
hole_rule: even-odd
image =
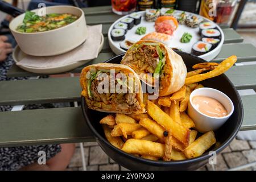
[(144, 113), (141, 81), (126, 65), (99, 63), (82, 69), (81, 95), (90, 109), (108, 113)]

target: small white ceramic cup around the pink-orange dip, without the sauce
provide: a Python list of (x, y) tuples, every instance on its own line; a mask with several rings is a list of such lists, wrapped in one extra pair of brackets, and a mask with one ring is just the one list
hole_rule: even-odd
[[(193, 97), (195, 96), (207, 96), (216, 99), (217, 101), (221, 102), (221, 104), (225, 107), (225, 109), (228, 111), (228, 115), (226, 115), (225, 117), (210, 117), (208, 115), (201, 113), (199, 110), (196, 109), (196, 107), (192, 103)], [(229, 119), (233, 111), (234, 105), (230, 98), (226, 96), (226, 94), (216, 89), (196, 89), (191, 93), (189, 97), (188, 115), (193, 119), (196, 125), (196, 129), (201, 133), (219, 129)]]

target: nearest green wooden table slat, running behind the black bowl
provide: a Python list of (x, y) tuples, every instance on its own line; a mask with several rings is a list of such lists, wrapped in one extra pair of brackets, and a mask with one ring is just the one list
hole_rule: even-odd
[[(241, 130), (255, 130), (256, 97), (242, 96), (245, 117)], [(77, 143), (95, 140), (81, 107), (0, 112), (0, 147)], [(15, 135), (14, 135), (15, 133)]]

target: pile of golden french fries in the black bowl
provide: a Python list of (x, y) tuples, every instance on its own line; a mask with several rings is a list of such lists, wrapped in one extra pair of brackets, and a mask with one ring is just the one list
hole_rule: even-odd
[[(216, 138), (213, 131), (198, 134), (187, 112), (189, 96), (199, 81), (218, 76), (236, 63), (230, 56), (222, 63), (200, 63), (188, 72), (185, 85), (170, 96), (144, 102), (147, 113), (110, 114), (101, 119), (106, 139), (113, 146), (135, 156), (150, 160), (185, 160), (204, 154)], [(203, 73), (209, 71), (207, 73)], [(197, 137), (199, 136), (199, 137)]]

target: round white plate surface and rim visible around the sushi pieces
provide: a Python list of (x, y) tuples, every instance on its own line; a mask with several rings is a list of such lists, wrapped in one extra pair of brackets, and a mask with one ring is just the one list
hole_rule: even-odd
[[(175, 10), (175, 13), (182, 13), (182, 12), (183, 11)], [(127, 31), (127, 33), (125, 35), (125, 40), (132, 40), (134, 42), (137, 42), (138, 40), (143, 38), (143, 36), (147, 35), (150, 32), (155, 31), (155, 22), (147, 22), (146, 21), (146, 19), (144, 17), (145, 16), (145, 11), (139, 11), (137, 13), (142, 14), (141, 23), (139, 23), (138, 25), (134, 25), (133, 28), (131, 28), (130, 30)], [(186, 14), (196, 15), (197, 17), (202, 18), (205, 21), (211, 22), (209, 19), (204, 18), (203, 16), (200, 16), (200, 15), (197, 15), (197, 14), (193, 14), (193, 13), (189, 13), (189, 12), (186, 12)], [(114, 25), (116, 23), (120, 22), (121, 19), (125, 19), (127, 17), (129, 17), (129, 15), (123, 16), (122, 18), (119, 18), (118, 20), (116, 20), (112, 24), (112, 26), (110, 26), (109, 31), (108, 31), (109, 46), (116, 55), (119, 55), (119, 54), (124, 53), (126, 51), (124, 49), (120, 48), (120, 45), (119, 45), (120, 42), (122, 42), (123, 40), (122, 41), (112, 40), (110, 32), (113, 30)], [(146, 27), (146, 34), (144, 34), (144, 35), (135, 34), (138, 27)], [(218, 44), (218, 46), (216, 48), (214, 48), (212, 51), (210, 51), (208, 53), (205, 53), (204, 55), (199, 56), (199, 57), (201, 57), (202, 59), (204, 59), (206, 61), (213, 60), (214, 57), (216, 57), (218, 55), (218, 53), (220, 53), (221, 47), (224, 43), (224, 33), (217, 24), (216, 24), (216, 27), (218, 28), (218, 30), (221, 33), (221, 40), (220, 40), (220, 43)], [(180, 42), (180, 38), (184, 34), (184, 32), (188, 32), (189, 34), (192, 35), (192, 39), (189, 43), (181, 43)], [(172, 35), (172, 39), (171, 39), (170, 43), (167, 46), (171, 47), (171, 48), (181, 48), (184, 52), (191, 53), (191, 48), (192, 48), (193, 44), (196, 43), (199, 40), (201, 40), (201, 36), (199, 35), (199, 27), (191, 28), (191, 27), (188, 27), (186, 24), (180, 24), (179, 23), (179, 26), (174, 31), (174, 34)]]

